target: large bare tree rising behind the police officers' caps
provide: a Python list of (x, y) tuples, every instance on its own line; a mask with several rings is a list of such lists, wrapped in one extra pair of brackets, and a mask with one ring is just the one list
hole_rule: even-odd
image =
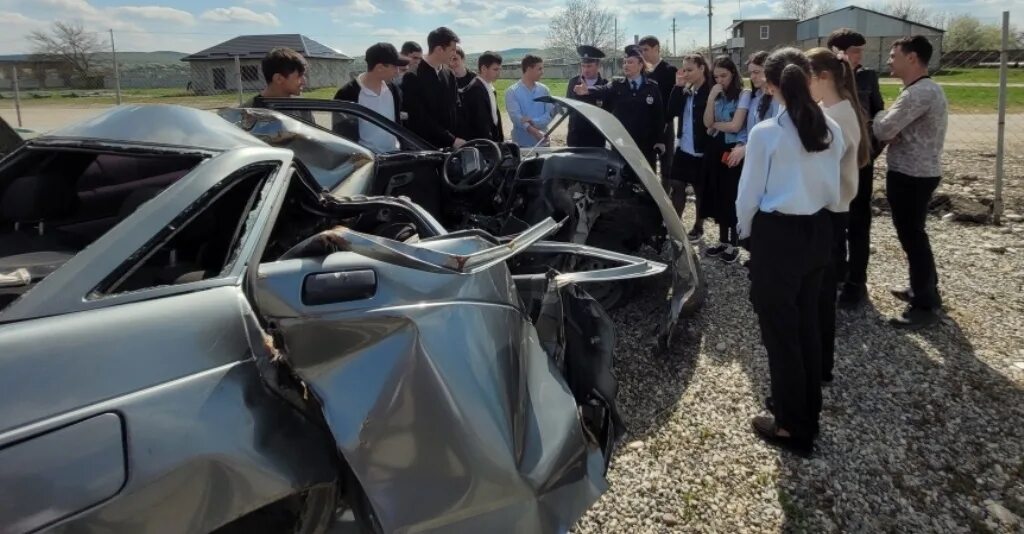
[(615, 35), (615, 14), (600, 7), (597, 0), (568, 0), (565, 8), (551, 19), (547, 46), (562, 57), (574, 57), (581, 44), (614, 54), (616, 44), (626, 44), (625, 35), (624, 28)]

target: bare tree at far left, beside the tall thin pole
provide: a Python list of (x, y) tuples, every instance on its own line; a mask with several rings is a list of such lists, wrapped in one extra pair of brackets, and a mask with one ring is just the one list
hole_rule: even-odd
[(99, 73), (97, 55), (105, 42), (95, 33), (87, 32), (81, 23), (53, 23), (49, 32), (36, 30), (29, 34), (37, 58), (60, 61), (71, 73), (89, 78)]

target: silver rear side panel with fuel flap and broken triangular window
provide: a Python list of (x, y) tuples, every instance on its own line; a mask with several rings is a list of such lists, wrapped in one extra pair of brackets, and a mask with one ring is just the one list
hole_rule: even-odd
[[(267, 148), (210, 159), (0, 315), (5, 532), (207, 532), (333, 480), (326, 435), (261, 382), (241, 290), (290, 165)], [(236, 217), (221, 269), (128, 282), (177, 266), (167, 247), (206, 239), (223, 199), (241, 209), (215, 212)]]

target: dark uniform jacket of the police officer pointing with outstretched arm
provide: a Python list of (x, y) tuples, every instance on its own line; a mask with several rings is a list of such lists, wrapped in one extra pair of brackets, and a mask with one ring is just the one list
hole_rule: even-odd
[(648, 159), (654, 154), (654, 145), (665, 140), (662, 89), (647, 76), (641, 76), (640, 87), (636, 91), (629, 80), (616, 78), (608, 85), (594, 87), (590, 94), (582, 98), (587, 101), (603, 99)]

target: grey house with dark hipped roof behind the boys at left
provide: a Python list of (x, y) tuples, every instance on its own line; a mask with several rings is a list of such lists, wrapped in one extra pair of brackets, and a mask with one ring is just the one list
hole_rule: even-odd
[(306, 58), (306, 88), (339, 87), (351, 78), (353, 59), (300, 34), (242, 35), (181, 58), (190, 66), (193, 91), (257, 92), (266, 86), (260, 61), (274, 48), (291, 48)]

